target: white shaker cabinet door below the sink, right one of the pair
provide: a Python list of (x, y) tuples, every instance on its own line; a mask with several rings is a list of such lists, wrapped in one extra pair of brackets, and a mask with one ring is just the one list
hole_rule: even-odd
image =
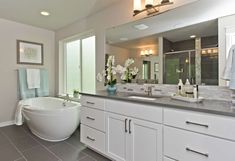
[(131, 161), (162, 161), (162, 125), (129, 118)]

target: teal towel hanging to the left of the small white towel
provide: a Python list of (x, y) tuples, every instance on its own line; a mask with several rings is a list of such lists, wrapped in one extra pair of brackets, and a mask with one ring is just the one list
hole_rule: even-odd
[(18, 70), (18, 77), (20, 99), (34, 98), (36, 96), (35, 89), (29, 89), (27, 86), (26, 69), (20, 68)]

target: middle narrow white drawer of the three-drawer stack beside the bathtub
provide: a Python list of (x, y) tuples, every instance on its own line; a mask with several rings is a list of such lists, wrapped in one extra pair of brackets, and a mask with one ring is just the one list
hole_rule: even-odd
[(104, 111), (82, 106), (81, 123), (100, 131), (105, 131), (105, 114)]

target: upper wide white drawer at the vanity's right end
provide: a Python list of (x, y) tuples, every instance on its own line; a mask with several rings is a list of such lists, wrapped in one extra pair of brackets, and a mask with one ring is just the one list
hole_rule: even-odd
[(235, 118), (233, 117), (165, 108), (164, 124), (235, 140)]

